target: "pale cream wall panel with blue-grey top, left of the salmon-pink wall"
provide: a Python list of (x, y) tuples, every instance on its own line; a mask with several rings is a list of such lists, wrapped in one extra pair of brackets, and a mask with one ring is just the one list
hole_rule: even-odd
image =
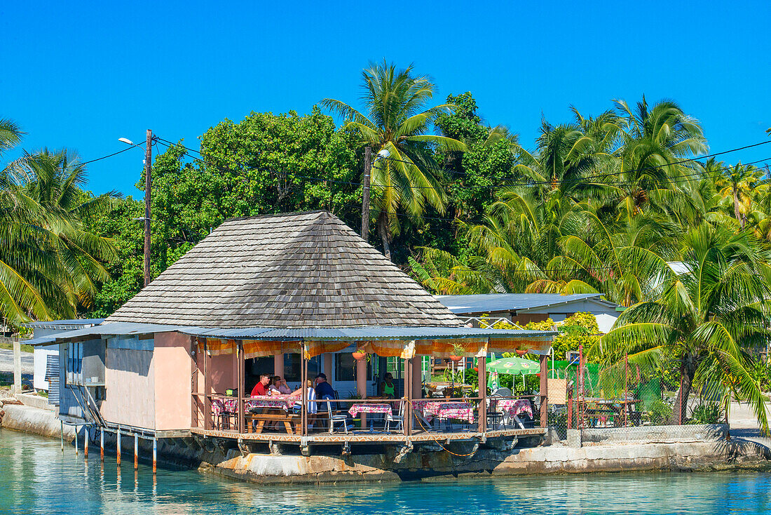
[(109, 348), (104, 376), (106, 398), (101, 412), (105, 420), (155, 429), (153, 352)]

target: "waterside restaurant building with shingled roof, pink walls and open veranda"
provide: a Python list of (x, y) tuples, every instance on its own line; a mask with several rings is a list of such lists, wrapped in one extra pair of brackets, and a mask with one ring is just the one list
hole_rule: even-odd
[[(422, 398), (419, 370), (423, 356), (463, 354), (477, 358), (484, 377), (488, 354), (527, 351), (540, 355), (545, 371), (553, 336), (466, 327), (322, 211), (228, 220), (102, 324), (35, 343), (59, 345), (66, 422), (148, 438), (269, 439), (307, 452), (325, 443), (411, 445), (438, 434), (447, 441), (540, 434), (545, 373), (533, 398), (543, 427), (524, 428), (490, 417), (485, 388)], [(355, 361), (354, 351), (369, 358)], [(261, 373), (298, 388), (322, 371), (341, 399), (334, 406), (309, 399), (305, 388), (284, 405), (249, 396)], [(396, 378), (396, 399), (367, 398), (385, 371)], [(358, 416), (348, 415), (352, 404)]]

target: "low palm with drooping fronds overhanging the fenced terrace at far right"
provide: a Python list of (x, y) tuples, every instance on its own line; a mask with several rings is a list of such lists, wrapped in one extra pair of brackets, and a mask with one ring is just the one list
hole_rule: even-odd
[(769, 338), (769, 251), (752, 233), (708, 223), (691, 229), (680, 241), (689, 273), (671, 276), (655, 300), (635, 304), (618, 317), (613, 330), (590, 353), (608, 363), (628, 354), (641, 367), (682, 355), (682, 387), (670, 422), (684, 421), (692, 386), (722, 395), (728, 412), (731, 398), (749, 401), (768, 433), (766, 407), (752, 378), (748, 351)]

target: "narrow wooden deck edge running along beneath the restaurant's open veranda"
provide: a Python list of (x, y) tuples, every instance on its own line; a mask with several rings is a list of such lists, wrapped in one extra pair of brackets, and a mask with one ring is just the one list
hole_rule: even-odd
[(244, 442), (277, 442), (277, 443), (296, 443), (301, 445), (302, 442), (314, 443), (314, 444), (339, 444), (343, 442), (348, 443), (360, 443), (360, 444), (390, 444), (400, 445), (406, 442), (439, 442), (449, 443), (453, 441), (480, 441), (483, 439), (498, 439), (498, 438), (521, 438), (525, 436), (543, 435), (546, 429), (534, 428), (534, 429), (497, 429), (495, 431), (488, 431), (484, 434), (480, 432), (417, 432), (412, 435), (397, 435), (397, 434), (384, 434), (377, 432), (349, 432), (347, 435), (344, 432), (334, 432), (332, 434), (328, 432), (315, 432), (308, 436), (301, 435), (288, 435), (281, 432), (261, 432), (261, 433), (241, 433), (236, 431), (219, 431), (217, 429), (190, 429), (195, 435), (208, 436), (212, 438), (224, 438), (241, 440)]

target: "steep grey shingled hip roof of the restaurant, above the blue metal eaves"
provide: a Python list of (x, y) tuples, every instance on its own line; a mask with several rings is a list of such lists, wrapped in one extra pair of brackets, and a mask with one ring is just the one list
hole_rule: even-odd
[(329, 212), (231, 219), (107, 318), (200, 327), (460, 327)]

